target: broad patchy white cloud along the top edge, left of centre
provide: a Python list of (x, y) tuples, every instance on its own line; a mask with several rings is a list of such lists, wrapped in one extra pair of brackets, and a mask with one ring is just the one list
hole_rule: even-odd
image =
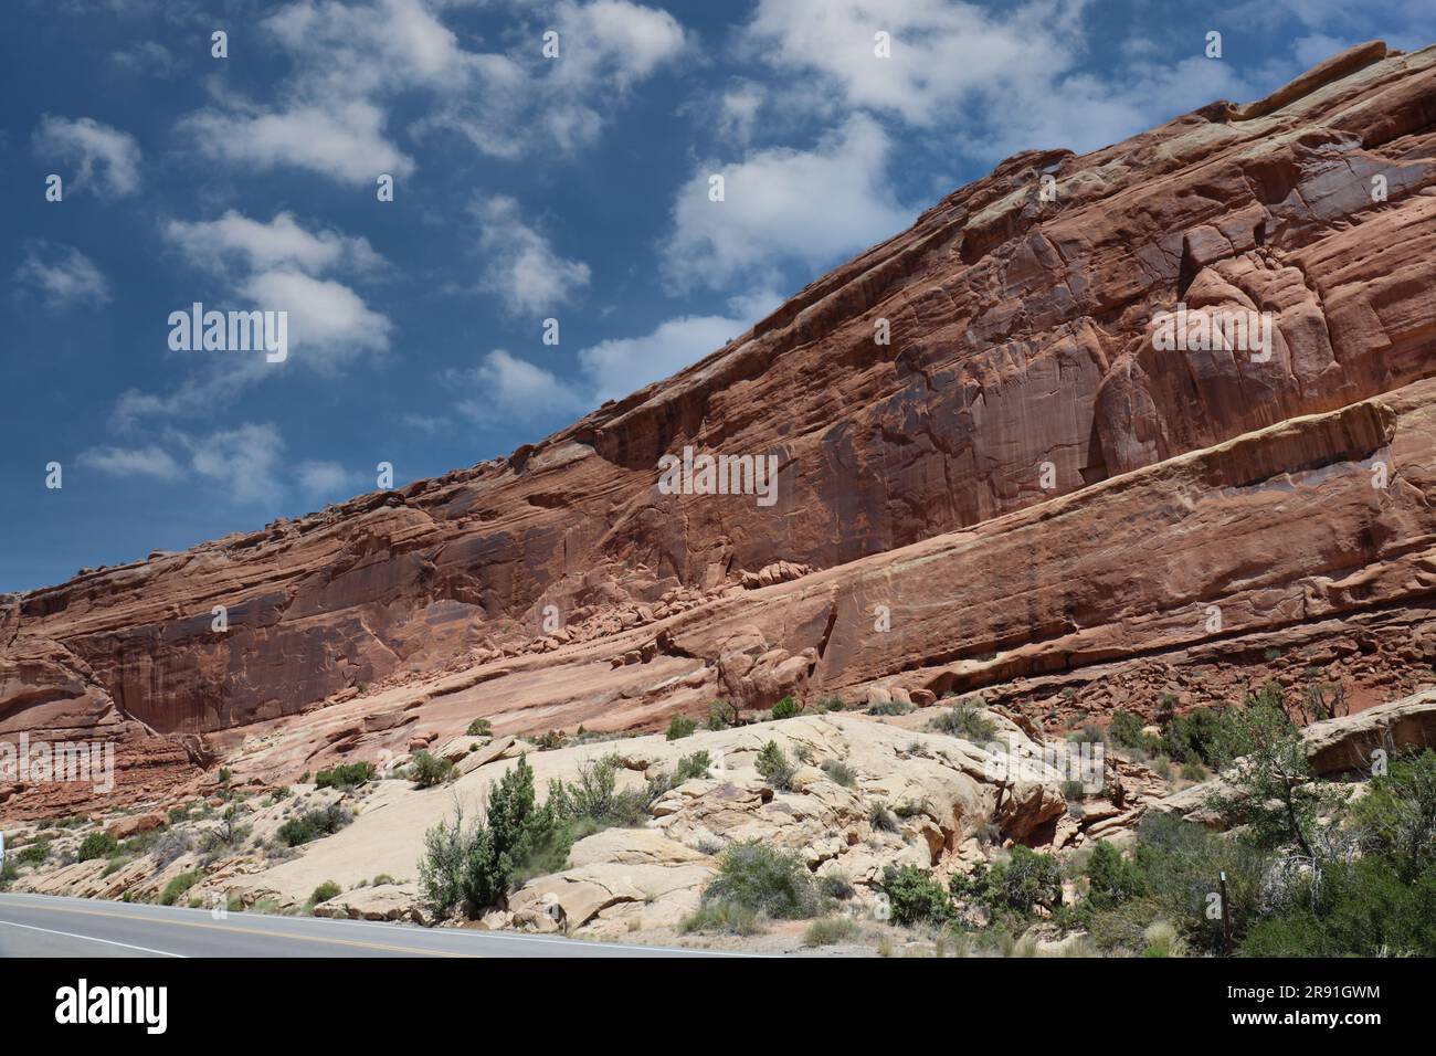
[[(372, 184), (381, 172), (415, 171), (388, 126), (401, 93), (421, 93), (428, 106), (415, 132), (449, 129), (507, 158), (544, 142), (573, 149), (599, 135), (605, 114), (632, 85), (685, 46), (666, 11), (566, 0), (543, 13), (517, 6), (521, 27), (505, 36), (516, 40), (513, 50), (468, 50), (444, 24), (444, 7), (437, 0), (286, 4), (260, 23), (292, 62), (283, 102), (220, 98), (181, 128), (205, 155), (234, 165), (287, 165)], [(534, 43), (546, 27), (560, 33), (556, 60)]]

